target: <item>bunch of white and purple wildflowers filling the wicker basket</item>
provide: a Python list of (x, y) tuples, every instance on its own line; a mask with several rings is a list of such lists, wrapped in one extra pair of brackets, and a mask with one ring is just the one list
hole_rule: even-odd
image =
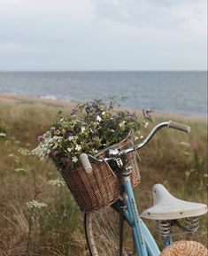
[(114, 100), (108, 104), (94, 100), (77, 105), (69, 116), (60, 116), (39, 136), (33, 153), (52, 159), (58, 169), (73, 169), (79, 164), (82, 152), (96, 155), (124, 139), (130, 131), (139, 138), (141, 125), (145, 123), (135, 113), (121, 110)]

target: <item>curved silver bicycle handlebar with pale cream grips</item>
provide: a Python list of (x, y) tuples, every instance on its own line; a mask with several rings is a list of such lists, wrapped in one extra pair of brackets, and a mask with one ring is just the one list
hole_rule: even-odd
[(90, 154), (82, 153), (81, 157), (80, 157), (81, 163), (82, 163), (84, 169), (86, 170), (86, 172), (90, 173), (92, 171), (92, 167), (90, 165), (89, 158), (94, 159), (97, 162), (104, 162), (104, 161), (110, 161), (112, 159), (116, 159), (116, 158), (118, 158), (124, 154), (130, 153), (132, 151), (139, 150), (139, 149), (143, 148), (144, 145), (148, 144), (150, 139), (156, 134), (156, 132), (158, 132), (158, 130), (160, 128), (164, 128), (164, 127), (178, 129), (178, 130), (186, 132), (186, 133), (190, 132), (190, 127), (187, 125), (180, 124), (180, 123), (174, 122), (172, 120), (164, 121), (164, 122), (159, 123), (156, 127), (152, 128), (152, 130), (150, 131), (150, 134), (148, 136), (146, 136), (146, 138), (143, 140), (142, 143), (136, 144), (134, 147), (131, 147), (131, 148), (128, 148), (125, 150), (121, 150), (121, 151), (119, 151), (118, 149), (110, 148), (109, 149), (109, 157), (104, 158), (104, 159), (98, 159), (95, 156), (92, 156)]

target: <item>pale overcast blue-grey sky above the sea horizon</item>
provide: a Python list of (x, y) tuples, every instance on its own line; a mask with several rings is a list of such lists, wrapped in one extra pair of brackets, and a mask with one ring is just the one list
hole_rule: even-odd
[(1, 71), (206, 69), (206, 0), (0, 0)]

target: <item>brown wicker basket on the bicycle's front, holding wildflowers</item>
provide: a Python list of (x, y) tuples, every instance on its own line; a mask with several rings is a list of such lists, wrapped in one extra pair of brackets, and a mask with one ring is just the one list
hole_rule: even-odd
[[(114, 146), (117, 149), (132, 146), (131, 136), (127, 136)], [(106, 150), (100, 151), (96, 156), (104, 157)], [(127, 155), (127, 162), (129, 162), (129, 166), (133, 167), (130, 180), (132, 186), (135, 187), (140, 182), (140, 171), (135, 151)], [(82, 166), (73, 170), (61, 170), (69, 190), (83, 212), (93, 212), (112, 205), (119, 198), (121, 191), (121, 177), (115, 175), (108, 164), (93, 162), (91, 165), (93, 171), (90, 174), (87, 174)]]

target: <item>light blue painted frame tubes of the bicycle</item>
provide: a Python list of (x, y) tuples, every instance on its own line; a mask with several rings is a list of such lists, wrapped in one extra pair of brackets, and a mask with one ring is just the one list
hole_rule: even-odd
[(159, 256), (158, 244), (139, 216), (129, 176), (124, 176), (124, 193), (127, 195), (127, 210), (124, 218), (133, 229), (135, 248), (139, 256)]

